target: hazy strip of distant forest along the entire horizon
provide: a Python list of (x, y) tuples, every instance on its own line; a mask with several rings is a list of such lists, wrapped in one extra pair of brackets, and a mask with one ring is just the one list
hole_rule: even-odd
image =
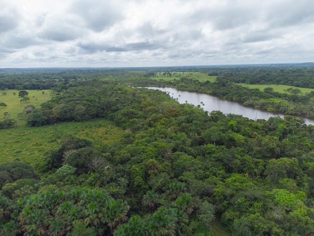
[[(0, 69), (0, 87), (8, 89), (52, 89), (70, 81), (101, 79), (121, 80), (151, 77), (156, 72), (203, 72), (218, 80), (248, 84), (285, 84), (314, 88), (314, 63), (265, 65), (174, 66), (141, 68), (21, 68)], [(39, 82), (41, 80), (41, 82)], [(63, 84), (64, 85), (64, 84)]]

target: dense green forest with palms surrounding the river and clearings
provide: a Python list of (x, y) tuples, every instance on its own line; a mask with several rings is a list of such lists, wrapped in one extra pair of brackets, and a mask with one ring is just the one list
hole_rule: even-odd
[[(172, 86), (242, 103), (284, 100), (301, 107), (299, 114), (312, 114), (314, 93), (259, 91), (227, 76), (268, 68), (279, 78), (280, 70), (290, 71), (290, 65), (277, 67), (0, 71), (3, 91), (11, 79), (21, 89), (52, 82), (51, 99), (24, 111), (33, 129), (104, 119), (124, 130), (111, 145), (56, 136), (58, 148), (44, 150), (36, 166), (0, 163), (0, 235), (219, 235), (215, 218), (226, 230), (221, 235), (313, 235), (313, 126), (291, 115), (253, 121), (208, 113), (139, 87)], [(176, 70), (218, 77), (153, 79)], [(284, 105), (271, 107), (287, 112)]]

